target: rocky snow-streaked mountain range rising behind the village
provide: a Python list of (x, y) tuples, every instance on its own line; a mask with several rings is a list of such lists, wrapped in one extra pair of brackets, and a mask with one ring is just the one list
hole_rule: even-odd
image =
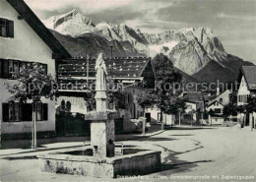
[[(204, 72), (207, 65), (215, 65), (219, 70), (226, 71), (231, 64), (229, 59), (233, 62), (239, 60), (237, 64), (242, 64), (240, 59), (228, 56), (222, 42), (210, 28), (146, 33), (124, 24), (114, 25), (101, 22), (95, 25), (90, 18), (77, 10), (51, 17), (43, 23), (48, 29), (62, 34), (56, 37), (64, 45), (70, 47), (73, 43), (81, 44), (81, 46), (73, 45), (70, 48), (76, 56), (83, 56), (88, 52), (96, 54), (97, 50), (103, 50), (109, 55), (110, 46), (113, 46), (114, 56), (147, 55), (154, 57), (158, 53), (163, 53), (169, 57), (176, 68), (201, 79), (204, 79), (205, 74), (211, 73), (208, 67), (208, 73)], [(79, 50), (76, 50), (74, 46), (80, 47)], [(214, 74), (215, 71), (212, 70), (212, 72), (211, 74)]]

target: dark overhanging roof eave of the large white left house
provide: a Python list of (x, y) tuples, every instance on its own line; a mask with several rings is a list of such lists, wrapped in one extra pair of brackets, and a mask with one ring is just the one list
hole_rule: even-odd
[(69, 52), (53, 36), (53, 34), (41, 23), (24, 0), (7, 0), (7, 2), (21, 15), (38, 36), (57, 54), (58, 58), (71, 57)]

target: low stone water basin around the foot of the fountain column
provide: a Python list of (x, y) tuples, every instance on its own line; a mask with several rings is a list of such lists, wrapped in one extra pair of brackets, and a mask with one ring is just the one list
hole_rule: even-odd
[(90, 150), (51, 152), (39, 154), (37, 158), (41, 170), (52, 173), (116, 178), (160, 171), (160, 152), (132, 150), (113, 157), (100, 158), (93, 156)]

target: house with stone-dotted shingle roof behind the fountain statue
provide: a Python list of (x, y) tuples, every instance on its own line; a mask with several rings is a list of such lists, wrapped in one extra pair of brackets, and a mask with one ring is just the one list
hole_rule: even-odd
[[(116, 57), (104, 58), (108, 79), (121, 87), (125, 95), (127, 109), (120, 112), (120, 117), (137, 119), (144, 115), (143, 109), (137, 104), (136, 98), (142, 95), (145, 89), (155, 88), (155, 73), (151, 59), (147, 57)], [(72, 58), (62, 60), (64, 64), (58, 66), (59, 88), (57, 106), (62, 100), (71, 102), (71, 112), (88, 113), (88, 104), (85, 95), (87, 90), (81, 88), (89, 83), (96, 82), (96, 58)], [(69, 84), (78, 84), (77, 88), (70, 88)], [(91, 88), (93, 89), (93, 88)], [(109, 103), (109, 109), (111, 104)], [(129, 127), (129, 126), (127, 126)]]

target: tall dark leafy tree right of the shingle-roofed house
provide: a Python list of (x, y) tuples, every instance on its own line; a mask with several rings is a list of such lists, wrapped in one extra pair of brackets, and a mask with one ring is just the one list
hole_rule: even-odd
[(139, 102), (143, 108), (153, 105), (160, 108), (161, 129), (163, 130), (162, 114), (176, 114), (178, 108), (185, 105), (179, 96), (180, 86), (177, 85), (181, 83), (182, 75), (174, 69), (171, 61), (163, 54), (158, 54), (153, 59), (153, 66), (157, 77), (156, 89), (145, 92)]

